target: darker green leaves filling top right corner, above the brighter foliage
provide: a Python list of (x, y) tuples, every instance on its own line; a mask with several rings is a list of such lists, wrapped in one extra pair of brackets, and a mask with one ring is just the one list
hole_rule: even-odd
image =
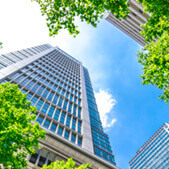
[(150, 18), (142, 25), (141, 34), (146, 42), (152, 42), (163, 35), (169, 34), (169, 1), (168, 0), (137, 0), (142, 3), (144, 12), (150, 13)]

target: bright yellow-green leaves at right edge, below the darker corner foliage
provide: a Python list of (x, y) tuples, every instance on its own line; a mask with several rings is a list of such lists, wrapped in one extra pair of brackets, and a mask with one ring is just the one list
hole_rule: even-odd
[(156, 42), (146, 45), (138, 52), (138, 61), (143, 65), (143, 84), (153, 84), (163, 90), (159, 97), (169, 99), (169, 34), (165, 33)]

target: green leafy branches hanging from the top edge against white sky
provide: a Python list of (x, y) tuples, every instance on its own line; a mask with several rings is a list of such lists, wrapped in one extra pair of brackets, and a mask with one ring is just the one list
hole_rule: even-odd
[(97, 26), (98, 19), (110, 10), (119, 17), (127, 17), (127, 0), (32, 0), (40, 5), (42, 15), (46, 16), (49, 35), (67, 29), (71, 35), (79, 33), (75, 18)]

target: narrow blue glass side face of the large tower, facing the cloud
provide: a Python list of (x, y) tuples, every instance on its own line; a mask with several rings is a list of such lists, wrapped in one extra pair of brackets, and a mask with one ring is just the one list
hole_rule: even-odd
[(116, 165), (114, 155), (112, 154), (109, 137), (103, 131), (100, 115), (96, 105), (93, 88), (91, 85), (88, 70), (83, 67), (85, 87), (87, 93), (87, 102), (90, 116), (90, 124), (92, 129), (92, 139), (94, 145), (94, 153), (106, 161)]

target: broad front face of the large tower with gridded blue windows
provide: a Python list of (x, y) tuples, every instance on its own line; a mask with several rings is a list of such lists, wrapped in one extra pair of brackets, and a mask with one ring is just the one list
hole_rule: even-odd
[(27, 99), (38, 109), (37, 122), (42, 127), (67, 140), (69, 133), (70, 141), (82, 146), (78, 63), (54, 50), (8, 76), (5, 81), (17, 83), (27, 94)]

